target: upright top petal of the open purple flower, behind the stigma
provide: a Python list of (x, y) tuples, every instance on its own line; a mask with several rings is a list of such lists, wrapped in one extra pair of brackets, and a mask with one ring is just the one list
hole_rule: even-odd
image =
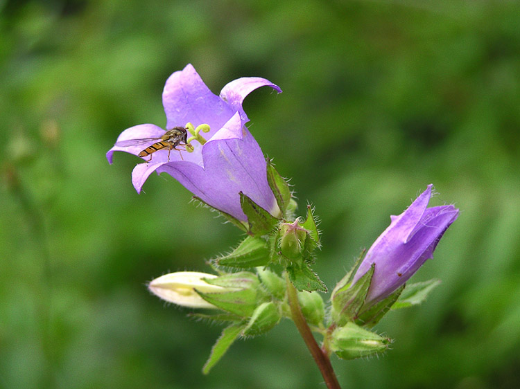
[(216, 131), (235, 113), (224, 100), (211, 93), (191, 64), (166, 80), (162, 104), (167, 129), (191, 122), (195, 127), (205, 123)]

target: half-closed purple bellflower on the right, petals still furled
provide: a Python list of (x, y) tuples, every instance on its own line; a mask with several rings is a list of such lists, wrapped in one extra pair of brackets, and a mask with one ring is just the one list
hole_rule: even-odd
[(427, 208), (432, 185), (399, 216), (390, 216), (390, 226), (376, 239), (359, 266), (352, 284), (375, 264), (365, 305), (383, 300), (401, 287), (426, 260), (458, 217), (454, 206)]

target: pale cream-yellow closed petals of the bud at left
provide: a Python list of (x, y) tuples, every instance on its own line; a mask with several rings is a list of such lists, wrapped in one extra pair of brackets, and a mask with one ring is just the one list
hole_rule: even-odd
[(224, 287), (211, 285), (202, 280), (202, 278), (216, 277), (214, 274), (200, 273), (198, 271), (177, 271), (177, 273), (169, 273), (155, 278), (148, 284), (148, 289), (155, 296), (183, 307), (216, 308), (195, 291), (195, 289), (203, 293), (226, 291), (227, 289)]

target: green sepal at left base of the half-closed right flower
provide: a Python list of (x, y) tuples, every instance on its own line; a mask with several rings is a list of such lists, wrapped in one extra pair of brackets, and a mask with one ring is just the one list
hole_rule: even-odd
[(374, 268), (375, 266), (372, 264), (370, 269), (353, 285), (352, 282), (345, 282), (345, 278), (338, 282), (342, 286), (338, 288), (338, 285), (336, 285), (331, 295), (333, 323), (342, 326), (358, 316), (358, 312), (363, 307), (367, 297)]

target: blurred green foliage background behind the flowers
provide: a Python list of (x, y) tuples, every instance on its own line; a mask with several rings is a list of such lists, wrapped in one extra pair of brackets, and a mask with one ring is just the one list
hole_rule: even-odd
[(250, 130), (322, 219), (329, 288), (415, 196), (460, 217), (376, 327), (385, 356), (333, 358), (344, 388), (520, 387), (518, 1), (0, 1), (0, 388), (324, 388), (293, 324), (239, 341), (146, 282), (209, 271), (241, 233), (169, 176), (105, 152), (164, 126), (187, 63), (218, 93), (260, 76)]

